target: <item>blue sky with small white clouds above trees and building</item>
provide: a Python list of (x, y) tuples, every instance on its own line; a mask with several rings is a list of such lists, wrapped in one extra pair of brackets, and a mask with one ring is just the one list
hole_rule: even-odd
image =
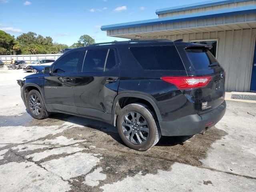
[(108, 37), (102, 25), (158, 18), (160, 8), (208, 0), (0, 0), (0, 30), (19, 36), (29, 31), (72, 45), (87, 34), (98, 42)]

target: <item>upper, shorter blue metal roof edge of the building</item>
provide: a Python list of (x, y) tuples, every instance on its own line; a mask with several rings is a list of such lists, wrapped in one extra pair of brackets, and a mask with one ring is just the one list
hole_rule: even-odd
[(218, 5), (246, 2), (246, 1), (251, 1), (251, 0), (211, 0), (211, 1), (205, 1), (200, 3), (193, 3), (193, 4), (182, 5), (182, 6), (157, 9), (156, 14), (159, 15), (159, 14), (165, 14), (165, 13), (186, 11), (191, 9), (205, 8), (210, 6), (218, 6)]

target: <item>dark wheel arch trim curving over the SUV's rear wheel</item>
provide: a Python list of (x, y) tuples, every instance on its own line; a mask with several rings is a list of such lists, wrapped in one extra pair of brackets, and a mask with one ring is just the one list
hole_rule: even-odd
[[(113, 125), (116, 126), (116, 120), (119, 113), (119, 110), (121, 109), (119, 101), (122, 100), (122, 98), (134, 98), (134, 99), (140, 99), (146, 101), (146, 104), (150, 104), (149, 107), (152, 107), (152, 110), (154, 110), (156, 117), (158, 121), (162, 121), (162, 116), (160, 114), (160, 111), (158, 109), (158, 106), (156, 105), (156, 102), (150, 98), (147, 95), (139, 94), (139, 93), (121, 93), (116, 96), (114, 99), (113, 107), (112, 107), (112, 114), (113, 114)], [(145, 104), (145, 102), (143, 102)]]

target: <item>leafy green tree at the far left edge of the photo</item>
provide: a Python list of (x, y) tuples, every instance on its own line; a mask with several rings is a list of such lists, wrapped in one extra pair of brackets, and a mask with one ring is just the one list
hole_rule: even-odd
[(14, 46), (14, 36), (0, 30), (0, 54), (10, 54)]

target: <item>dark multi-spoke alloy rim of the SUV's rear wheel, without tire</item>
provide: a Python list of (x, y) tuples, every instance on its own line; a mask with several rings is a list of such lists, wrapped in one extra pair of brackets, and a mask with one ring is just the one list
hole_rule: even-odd
[(146, 119), (138, 112), (129, 112), (122, 120), (124, 136), (133, 144), (140, 145), (149, 137), (149, 127)]

